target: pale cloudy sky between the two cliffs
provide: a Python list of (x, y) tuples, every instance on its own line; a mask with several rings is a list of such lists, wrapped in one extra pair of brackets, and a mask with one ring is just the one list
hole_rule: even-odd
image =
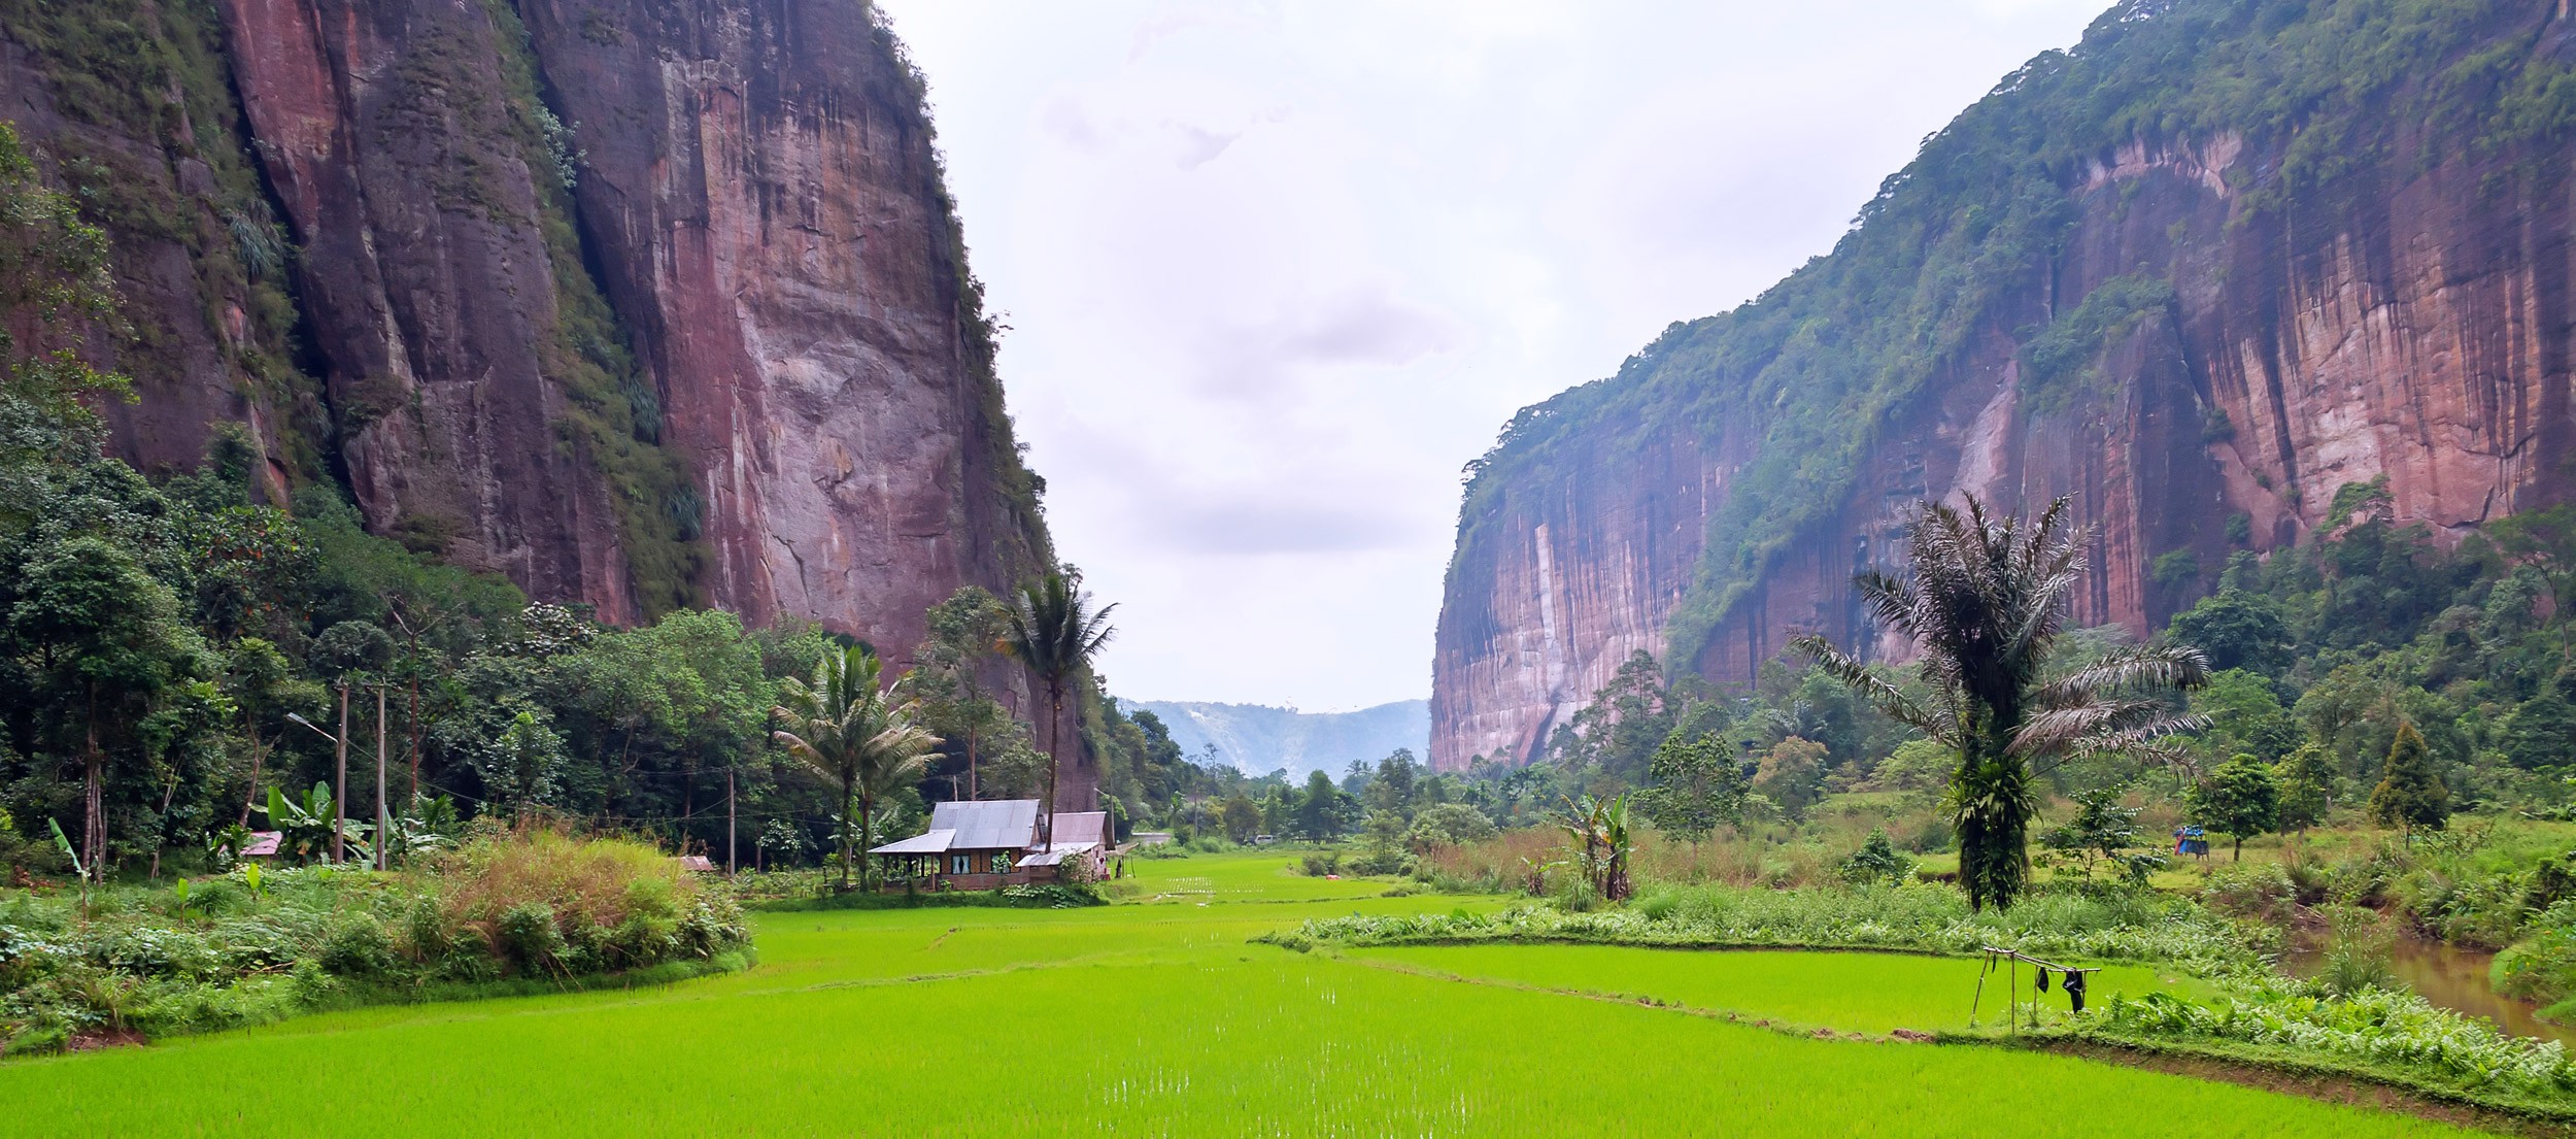
[(2107, 0), (878, 0), (1126, 698), (1430, 696), (1461, 466)]

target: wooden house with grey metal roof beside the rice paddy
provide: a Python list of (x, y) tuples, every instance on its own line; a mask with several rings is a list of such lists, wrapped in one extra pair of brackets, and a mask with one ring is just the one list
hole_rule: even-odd
[(891, 879), (930, 889), (1002, 889), (1097, 881), (1108, 868), (1108, 812), (1056, 812), (1054, 843), (1038, 843), (1036, 799), (948, 801), (930, 830), (868, 850)]

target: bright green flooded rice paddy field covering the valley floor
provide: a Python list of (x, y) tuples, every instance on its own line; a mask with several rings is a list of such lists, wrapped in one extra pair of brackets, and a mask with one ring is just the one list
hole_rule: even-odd
[[(1247, 938), (1497, 902), (1378, 897), (1388, 884), (1291, 876), (1280, 856), (1131, 866), (1115, 907), (762, 915), (757, 969), (662, 990), (374, 1008), (8, 1062), (0, 1136), (2460, 1134), (1883, 1038), (1965, 1026), (1973, 961), (1293, 953)], [(2115, 969), (2097, 984), (2187, 982)]]

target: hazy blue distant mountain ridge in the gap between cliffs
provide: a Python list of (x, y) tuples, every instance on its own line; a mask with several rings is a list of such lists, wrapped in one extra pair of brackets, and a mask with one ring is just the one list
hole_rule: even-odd
[(1278, 768), (1288, 768), (1293, 778), (1306, 778), (1309, 770), (1340, 776), (1350, 760), (1376, 763), (1396, 747), (1409, 747), (1414, 758), (1422, 758), (1432, 742), (1430, 701), (1378, 704), (1360, 711), (1203, 701), (1128, 701), (1128, 709), (1159, 716), (1172, 732), (1172, 742), (1193, 760), (1206, 758), (1208, 745), (1216, 745), (1218, 760), (1255, 776)]

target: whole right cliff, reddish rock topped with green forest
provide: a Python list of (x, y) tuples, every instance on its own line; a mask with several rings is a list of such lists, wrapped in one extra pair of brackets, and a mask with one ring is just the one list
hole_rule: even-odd
[(1870, 644), (1922, 497), (2069, 495), (2136, 634), (2344, 487), (2460, 539), (2568, 497), (2566, 3), (2128, 0), (1834, 247), (1522, 410), (1471, 466), (1432, 763), (1528, 760), (1643, 649)]

